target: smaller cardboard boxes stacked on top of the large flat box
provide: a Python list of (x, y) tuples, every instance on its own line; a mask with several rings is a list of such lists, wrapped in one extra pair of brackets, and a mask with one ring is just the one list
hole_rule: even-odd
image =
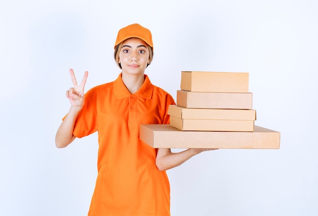
[(170, 125), (181, 131), (254, 131), (248, 73), (181, 72)]

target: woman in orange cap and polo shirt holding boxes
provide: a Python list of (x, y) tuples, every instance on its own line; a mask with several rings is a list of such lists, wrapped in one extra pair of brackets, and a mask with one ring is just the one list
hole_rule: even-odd
[(122, 70), (110, 83), (84, 95), (88, 72), (67, 91), (71, 108), (57, 133), (56, 146), (98, 131), (98, 177), (88, 215), (170, 215), (170, 186), (165, 170), (179, 166), (208, 149), (153, 149), (139, 139), (140, 124), (169, 124), (168, 107), (175, 104), (151, 84), (145, 69), (153, 56), (147, 28), (132, 24), (119, 30), (114, 57)]

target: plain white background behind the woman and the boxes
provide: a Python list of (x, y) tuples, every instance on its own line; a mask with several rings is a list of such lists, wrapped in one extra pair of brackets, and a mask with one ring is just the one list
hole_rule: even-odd
[[(182, 70), (248, 72), (256, 125), (280, 149), (203, 152), (169, 170), (171, 213), (317, 215), (316, 1), (0, 0), (0, 215), (87, 215), (97, 134), (57, 149), (65, 91), (113, 81), (119, 28), (153, 34), (153, 84), (176, 99)], [(179, 150), (179, 149), (174, 149)]]

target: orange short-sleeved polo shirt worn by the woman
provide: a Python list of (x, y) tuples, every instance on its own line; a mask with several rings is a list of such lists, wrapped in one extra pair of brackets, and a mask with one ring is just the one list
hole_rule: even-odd
[(98, 131), (98, 176), (89, 216), (170, 215), (170, 186), (155, 165), (156, 150), (139, 139), (140, 124), (169, 124), (171, 95), (147, 75), (131, 94), (121, 79), (85, 94), (74, 128), (78, 138)]

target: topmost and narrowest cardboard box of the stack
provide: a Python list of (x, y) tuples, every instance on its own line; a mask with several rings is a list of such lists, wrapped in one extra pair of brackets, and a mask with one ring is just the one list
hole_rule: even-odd
[(182, 71), (182, 90), (197, 92), (248, 92), (248, 73)]

